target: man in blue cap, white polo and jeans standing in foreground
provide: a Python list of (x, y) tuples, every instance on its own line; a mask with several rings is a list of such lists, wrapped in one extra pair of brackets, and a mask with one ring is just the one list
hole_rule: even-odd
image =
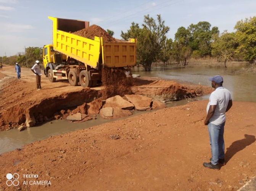
[(212, 158), (210, 158), (210, 163), (203, 163), (203, 166), (219, 170), (219, 164), (226, 164), (224, 160), (225, 146), (223, 137), (226, 121), (225, 112), (232, 107), (232, 99), (229, 90), (222, 86), (223, 78), (221, 76), (210, 77), (209, 81), (212, 82), (212, 87), (215, 90), (209, 98), (204, 125), (208, 125)]

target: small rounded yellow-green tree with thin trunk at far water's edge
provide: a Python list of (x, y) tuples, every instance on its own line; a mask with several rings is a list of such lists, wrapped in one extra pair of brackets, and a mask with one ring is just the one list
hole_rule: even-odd
[(228, 33), (225, 31), (221, 35), (215, 34), (213, 36), (213, 43), (211, 43), (212, 55), (216, 57), (220, 62), (226, 62), (233, 58), (237, 43), (235, 41), (235, 33)]

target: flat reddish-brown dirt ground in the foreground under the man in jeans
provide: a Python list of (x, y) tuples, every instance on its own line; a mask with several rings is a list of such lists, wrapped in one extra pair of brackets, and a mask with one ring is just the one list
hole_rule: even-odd
[(20, 183), (51, 182), (20, 190), (237, 190), (256, 173), (256, 103), (234, 101), (227, 113), (227, 164), (219, 171), (202, 165), (211, 155), (207, 103), (145, 112), (4, 153), (0, 189), (8, 187), (6, 174), (18, 173)]

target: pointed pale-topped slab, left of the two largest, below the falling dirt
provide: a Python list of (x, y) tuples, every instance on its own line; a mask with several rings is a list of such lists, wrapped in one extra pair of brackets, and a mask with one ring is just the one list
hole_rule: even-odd
[(120, 109), (133, 109), (134, 105), (129, 101), (124, 100), (121, 96), (116, 95), (114, 97), (106, 99), (106, 103), (103, 107), (119, 107)]

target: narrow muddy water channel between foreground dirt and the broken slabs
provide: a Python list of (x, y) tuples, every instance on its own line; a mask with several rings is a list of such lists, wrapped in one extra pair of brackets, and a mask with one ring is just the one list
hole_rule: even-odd
[[(188, 103), (186, 100), (176, 101), (176, 102), (169, 103), (167, 107), (184, 105), (186, 103)], [(155, 110), (151, 110), (147, 112), (154, 112), (154, 111)], [(146, 112), (135, 111), (131, 116), (136, 116), (143, 113), (146, 113)], [(79, 129), (90, 128), (95, 125), (100, 125), (102, 123), (112, 122), (115, 120), (119, 120), (119, 119), (106, 120), (98, 116), (96, 120), (90, 120), (83, 123), (72, 123), (72, 122), (69, 122), (68, 120), (54, 120), (52, 121), (51, 124), (50, 122), (48, 122), (41, 126), (27, 128), (25, 131), (18, 131), (17, 129), (2, 131), (0, 132), (0, 154), (15, 150), (16, 148), (22, 149), (23, 145), (30, 144), (37, 140), (47, 139), (50, 136), (56, 136), (56, 135), (76, 131)]]

